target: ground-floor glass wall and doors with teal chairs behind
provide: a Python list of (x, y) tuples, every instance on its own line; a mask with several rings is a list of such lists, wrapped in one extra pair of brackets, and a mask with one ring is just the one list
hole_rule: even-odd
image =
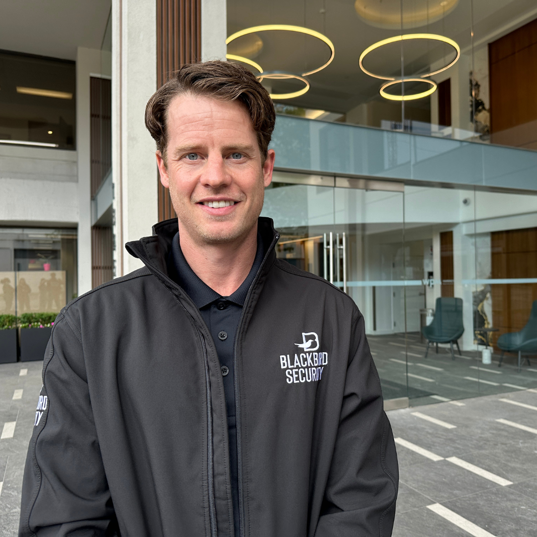
[(384, 398), (537, 386), (537, 196), (276, 172), (262, 214), (357, 303)]

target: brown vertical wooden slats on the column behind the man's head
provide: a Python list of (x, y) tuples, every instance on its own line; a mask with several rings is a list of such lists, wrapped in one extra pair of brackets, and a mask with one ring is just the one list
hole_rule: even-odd
[[(185, 63), (201, 60), (201, 0), (157, 1), (157, 85)], [(170, 193), (158, 182), (158, 220), (175, 218)]]

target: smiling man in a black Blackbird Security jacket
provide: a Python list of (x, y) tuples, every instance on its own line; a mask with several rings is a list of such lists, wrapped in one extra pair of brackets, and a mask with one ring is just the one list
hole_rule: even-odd
[(391, 535), (397, 458), (363, 318), (277, 259), (258, 218), (274, 120), (230, 62), (150, 99), (178, 219), (127, 244), (143, 269), (58, 316), (19, 535)]

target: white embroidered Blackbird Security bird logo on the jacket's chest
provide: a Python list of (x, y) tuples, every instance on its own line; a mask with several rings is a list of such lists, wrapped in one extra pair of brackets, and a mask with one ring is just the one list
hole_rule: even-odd
[(306, 352), (280, 354), (280, 366), (286, 370), (287, 383), (321, 380), (324, 366), (328, 364), (328, 352), (313, 352), (320, 347), (319, 336), (315, 332), (302, 332), (302, 343), (295, 345)]

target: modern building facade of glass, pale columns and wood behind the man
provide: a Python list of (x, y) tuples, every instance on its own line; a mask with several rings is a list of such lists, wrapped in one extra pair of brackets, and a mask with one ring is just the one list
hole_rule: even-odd
[(50, 13), (0, 38), (0, 313), (140, 266), (125, 242), (175, 214), (144, 107), (182, 64), (227, 59), (277, 108), (277, 254), (358, 304), (384, 397), (537, 386), (533, 2), (66, 6), (56, 43), (39, 39)]

